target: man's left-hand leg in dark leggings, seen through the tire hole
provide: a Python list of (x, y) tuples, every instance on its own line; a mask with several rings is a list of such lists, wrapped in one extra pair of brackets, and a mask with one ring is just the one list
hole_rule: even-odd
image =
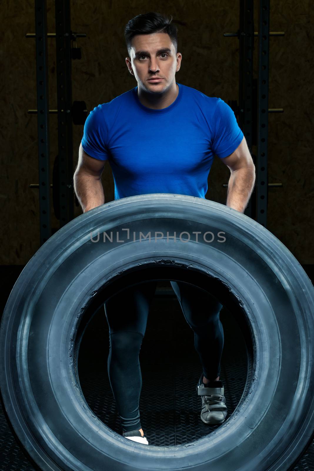
[(157, 282), (149, 282), (127, 288), (104, 304), (110, 337), (108, 376), (122, 429), (123, 432), (141, 430), (142, 436), (139, 352), (156, 285)]

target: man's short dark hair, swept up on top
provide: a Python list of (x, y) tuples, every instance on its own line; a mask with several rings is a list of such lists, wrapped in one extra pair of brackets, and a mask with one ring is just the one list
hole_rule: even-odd
[(129, 56), (131, 57), (131, 41), (136, 34), (151, 34), (153, 32), (165, 32), (169, 34), (173, 42), (175, 53), (178, 52), (178, 37), (177, 27), (172, 24), (173, 16), (168, 17), (160, 13), (150, 12), (137, 15), (132, 20), (128, 21), (124, 31), (126, 39), (126, 47)]

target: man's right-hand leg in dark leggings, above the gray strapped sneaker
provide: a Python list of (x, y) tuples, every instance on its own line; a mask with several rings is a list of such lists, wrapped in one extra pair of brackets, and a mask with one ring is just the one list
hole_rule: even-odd
[(194, 331), (194, 347), (203, 366), (203, 382), (218, 381), (224, 344), (219, 314), (222, 304), (211, 294), (182, 282), (171, 281), (188, 325)]

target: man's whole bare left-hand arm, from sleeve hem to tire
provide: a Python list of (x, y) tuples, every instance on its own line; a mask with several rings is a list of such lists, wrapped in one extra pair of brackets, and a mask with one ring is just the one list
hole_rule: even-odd
[(105, 202), (102, 187), (102, 171), (105, 161), (94, 159), (79, 146), (79, 161), (73, 175), (74, 191), (83, 212), (90, 211)]

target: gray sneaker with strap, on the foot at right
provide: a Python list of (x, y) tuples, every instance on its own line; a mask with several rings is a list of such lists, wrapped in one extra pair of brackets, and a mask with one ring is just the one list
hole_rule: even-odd
[(225, 422), (228, 411), (221, 381), (211, 381), (208, 386), (203, 383), (202, 374), (196, 386), (197, 394), (202, 398), (201, 420), (215, 425)]

